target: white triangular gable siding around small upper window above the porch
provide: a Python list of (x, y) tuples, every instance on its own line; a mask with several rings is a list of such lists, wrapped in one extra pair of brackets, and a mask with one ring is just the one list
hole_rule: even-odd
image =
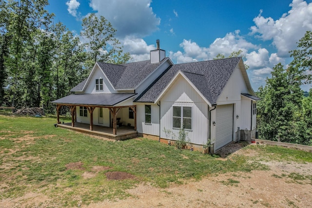
[[(103, 78), (103, 90), (96, 91), (96, 79), (98, 78)], [(92, 73), (92, 76), (89, 77), (87, 85), (88, 86), (84, 91), (85, 94), (117, 93), (117, 91), (114, 90), (113, 86), (109, 83), (108, 79), (97, 65), (94, 69), (94, 72)]]

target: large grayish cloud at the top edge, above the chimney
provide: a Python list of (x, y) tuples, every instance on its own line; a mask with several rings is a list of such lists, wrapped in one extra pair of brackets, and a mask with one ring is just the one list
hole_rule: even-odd
[(151, 0), (91, 0), (90, 7), (98, 11), (117, 29), (117, 38), (144, 37), (158, 30), (160, 18), (156, 17)]

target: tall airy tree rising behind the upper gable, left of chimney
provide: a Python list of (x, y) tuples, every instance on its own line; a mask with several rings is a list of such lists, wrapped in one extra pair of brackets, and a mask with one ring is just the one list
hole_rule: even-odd
[(130, 60), (129, 53), (122, 54), (122, 47), (117, 38), (116, 29), (103, 16), (98, 18), (94, 13), (82, 19), (80, 36), (84, 38), (84, 45), (89, 54), (90, 64), (104, 61), (121, 63)]

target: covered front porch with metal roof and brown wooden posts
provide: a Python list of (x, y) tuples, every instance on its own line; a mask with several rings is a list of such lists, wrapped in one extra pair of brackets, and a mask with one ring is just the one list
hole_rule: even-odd
[[(137, 106), (133, 105), (130, 99), (134, 95), (136, 94), (73, 94), (52, 103), (57, 104), (57, 124), (59, 127), (120, 140), (137, 135)], [(62, 106), (69, 107), (71, 123), (61, 124), (59, 121), (59, 110)], [(104, 115), (101, 109), (107, 109), (107, 113)], [(122, 112), (122, 109), (131, 109), (133, 112), (132, 125), (134, 126), (131, 126), (130, 123), (121, 126), (118, 112)], [(97, 113), (94, 116), (94, 112), (97, 112), (98, 116)], [(94, 125), (94, 120), (97, 121), (98, 117), (101, 117), (101, 122), (98, 121), (98, 123), (96, 122), (98, 125)]]

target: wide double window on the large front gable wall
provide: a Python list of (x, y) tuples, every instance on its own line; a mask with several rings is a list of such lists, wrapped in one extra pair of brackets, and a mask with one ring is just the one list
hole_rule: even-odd
[(173, 107), (173, 128), (192, 129), (192, 107)]

